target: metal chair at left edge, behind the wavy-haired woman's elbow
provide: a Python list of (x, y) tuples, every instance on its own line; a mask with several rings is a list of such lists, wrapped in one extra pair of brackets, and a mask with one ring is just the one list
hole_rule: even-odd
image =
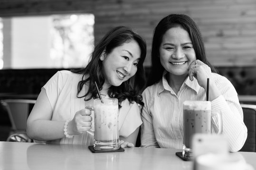
[(4, 99), (2, 105), (6, 108), (11, 122), (11, 132), (7, 139), (9, 142), (33, 142), (26, 134), (27, 119), (30, 108), (36, 100), (30, 99)]

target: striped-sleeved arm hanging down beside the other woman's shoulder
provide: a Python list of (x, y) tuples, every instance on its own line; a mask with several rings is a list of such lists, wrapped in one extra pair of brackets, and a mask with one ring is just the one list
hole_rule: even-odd
[(149, 93), (149, 89), (145, 89), (142, 93), (142, 99), (144, 107), (142, 110), (142, 126), (141, 126), (141, 147), (159, 147), (153, 127), (153, 120), (151, 115), (151, 99), (152, 95)]

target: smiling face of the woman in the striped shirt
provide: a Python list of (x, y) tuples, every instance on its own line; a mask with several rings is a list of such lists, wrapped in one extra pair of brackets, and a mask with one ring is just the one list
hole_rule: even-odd
[(172, 75), (188, 74), (191, 62), (196, 60), (190, 36), (181, 27), (173, 27), (166, 31), (159, 50), (161, 65)]

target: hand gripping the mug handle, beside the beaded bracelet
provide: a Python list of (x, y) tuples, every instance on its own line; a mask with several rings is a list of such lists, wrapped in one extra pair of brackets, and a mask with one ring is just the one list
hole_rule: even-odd
[(75, 117), (68, 123), (69, 135), (79, 135), (92, 127), (91, 109), (82, 109), (76, 112)]

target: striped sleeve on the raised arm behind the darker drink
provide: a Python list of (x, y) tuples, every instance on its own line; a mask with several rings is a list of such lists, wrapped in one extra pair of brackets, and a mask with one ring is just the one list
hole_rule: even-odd
[[(230, 152), (236, 152), (245, 144), (247, 127), (243, 121), (243, 110), (238, 101), (237, 92), (226, 78), (223, 79), (219, 82), (219, 84), (225, 84), (224, 87), (219, 87), (222, 95), (211, 102), (211, 107), (212, 110), (220, 110), (223, 122), (223, 135), (228, 138)], [(212, 122), (213, 129), (217, 132), (217, 116), (212, 116)]]

